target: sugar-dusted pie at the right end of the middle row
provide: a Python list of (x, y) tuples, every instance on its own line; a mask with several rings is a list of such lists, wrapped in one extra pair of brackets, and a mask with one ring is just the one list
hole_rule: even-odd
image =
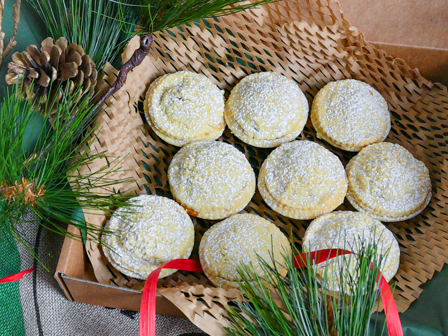
[(384, 222), (415, 217), (431, 199), (428, 168), (395, 143), (366, 146), (349, 161), (346, 172), (349, 202)]

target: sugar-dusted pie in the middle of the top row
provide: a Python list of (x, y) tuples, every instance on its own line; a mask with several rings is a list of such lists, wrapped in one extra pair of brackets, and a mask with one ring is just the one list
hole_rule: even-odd
[(246, 76), (233, 88), (224, 117), (241, 141), (276, 147), (297, 138), (308, 110), (308, 101), (296, 82), (275, 72), (262, 72)]

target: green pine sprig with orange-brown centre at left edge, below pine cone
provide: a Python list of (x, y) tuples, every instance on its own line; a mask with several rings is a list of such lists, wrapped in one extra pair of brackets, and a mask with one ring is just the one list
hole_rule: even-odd
[[(103, 231), (89, 223), (73, 222), (73, 213), (79, 207), (111, 215), (116, 207), (128, 204), (126, 197), (112, 196), (105, 189), (123, 182), (108, 178), (109, 172), (120, 169), (117, 160), (108, 158), (109, 172), (100, 169), (72, 174), (103, 154), (82, 151), (95, 130), (88, 130), (92, 104), (87, 99), (79, 101), (78, 92), (65, 92), (64, 97), (48, 107), (57, 111), (51, 124), (36, 111), (33, 102), (17, 92), (17, 86), (7, 91), (1, 106), (0, 226), (26, 246), (29, 244), (22, 238), (19, 224), (30, 212), (41, 219), (41, 225), (66, 236), (67, 224), (87, 232)], [(104, 192), (92, 193), (92, 187)]]

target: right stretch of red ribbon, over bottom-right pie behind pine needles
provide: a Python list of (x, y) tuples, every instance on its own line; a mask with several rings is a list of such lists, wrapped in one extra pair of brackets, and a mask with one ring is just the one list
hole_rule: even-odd
[[(318, 264), (323, 263), (324, 261), (327, 261), (329, 259), (336, 258), (337, 256), (351, 253), (353, 252), (348, 250), (327, 249), (310, 252), (310, 257), (312, 263)], [(306, 267), (307, 258), (307, 253), (296, 255), (296, 257), (294, 258), (294, 266), (296, 268)], [(373, 267), (373, 264), (371, 266)], [(381, 272), (379, 272), (378, 283), (381, 300), (383, 301), (384, 306), (384, 314), (386, 315), (389, 336), (404, 336), (400, 314), (398, 314), (398, 308), (393, 298), (392, 290)]]

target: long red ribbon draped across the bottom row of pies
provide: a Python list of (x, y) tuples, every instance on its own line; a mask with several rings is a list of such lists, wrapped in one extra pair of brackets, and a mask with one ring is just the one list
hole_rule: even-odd
[[(337, 256), (351, 253), (351, 251), (347, 250), (328, 249), (311, 252), (310, 256), (312, 262), (323, 263), (324, 261), (336, 258)], [(307, 258), (308, 254), (306, 253), (297, 255), (294, 258), (294, 266), (296, 268), (306, 267)], [(155, 296), (160, 271), (162, 271), (163, 268), (176, 268), (183, 271), (202, 272), (199, 260), (176, 259), (157, 268), (149, 275), (145, 287), (143, 288), (142, 305), (140, 306), (140, 336), (155, 336)], [(389, 336), (404, 336), (400, 315), (398, 314), (398, 308), (393, 298), (392, 290), (381, 273), (379, 276), (379, 289), (384, 305), (384, 314), (386, 314)]]

